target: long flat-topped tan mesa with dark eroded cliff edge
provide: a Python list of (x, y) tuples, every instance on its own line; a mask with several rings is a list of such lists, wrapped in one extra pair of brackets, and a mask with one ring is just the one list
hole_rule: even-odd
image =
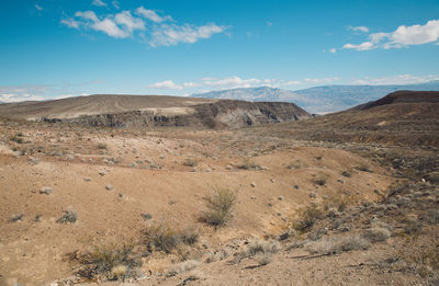
[(205, 100), (159, 95), (90, 95), (10, 103), (0, 116), (94, 127), (245, 127), (309, 118), (294, 103)]

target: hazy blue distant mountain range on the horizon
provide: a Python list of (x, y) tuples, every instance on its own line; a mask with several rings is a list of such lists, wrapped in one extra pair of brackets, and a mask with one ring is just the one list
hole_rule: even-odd
[(439, 81), (405, 85), (322, 85), (295, 91), (260, 87), (211, 91), (192, 96), (293, 102), (309, 113), (328, 113), (374, 101), (397, 90), (439, 91)]

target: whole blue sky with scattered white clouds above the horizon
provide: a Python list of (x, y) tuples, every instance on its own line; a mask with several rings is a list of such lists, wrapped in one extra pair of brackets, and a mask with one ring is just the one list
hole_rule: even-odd
[(439, 79), (439, 1), (2, 0), (0, 101)]

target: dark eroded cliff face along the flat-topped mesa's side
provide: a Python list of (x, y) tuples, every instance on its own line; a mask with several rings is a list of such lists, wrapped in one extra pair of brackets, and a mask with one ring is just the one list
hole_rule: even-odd
[(157, 115), (153, 111), (131, 111), (116, 114), (86, 115), (68, 119), (45, 118), (101, 127), (190, 126), (207, 128), (239, 128), (250, 125), (309, 118), (311, 115), (293, 103), (245, 102), (224, 100), (192, 106), (192, 114)]

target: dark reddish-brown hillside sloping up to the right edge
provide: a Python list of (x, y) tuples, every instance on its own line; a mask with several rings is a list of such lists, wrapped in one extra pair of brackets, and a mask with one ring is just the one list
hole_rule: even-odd
[(438, 99), (436, 91), (398, 91), (344, 112), (294, 125), (277, 125), (272, 131), (312, 140), (437, 146)]

